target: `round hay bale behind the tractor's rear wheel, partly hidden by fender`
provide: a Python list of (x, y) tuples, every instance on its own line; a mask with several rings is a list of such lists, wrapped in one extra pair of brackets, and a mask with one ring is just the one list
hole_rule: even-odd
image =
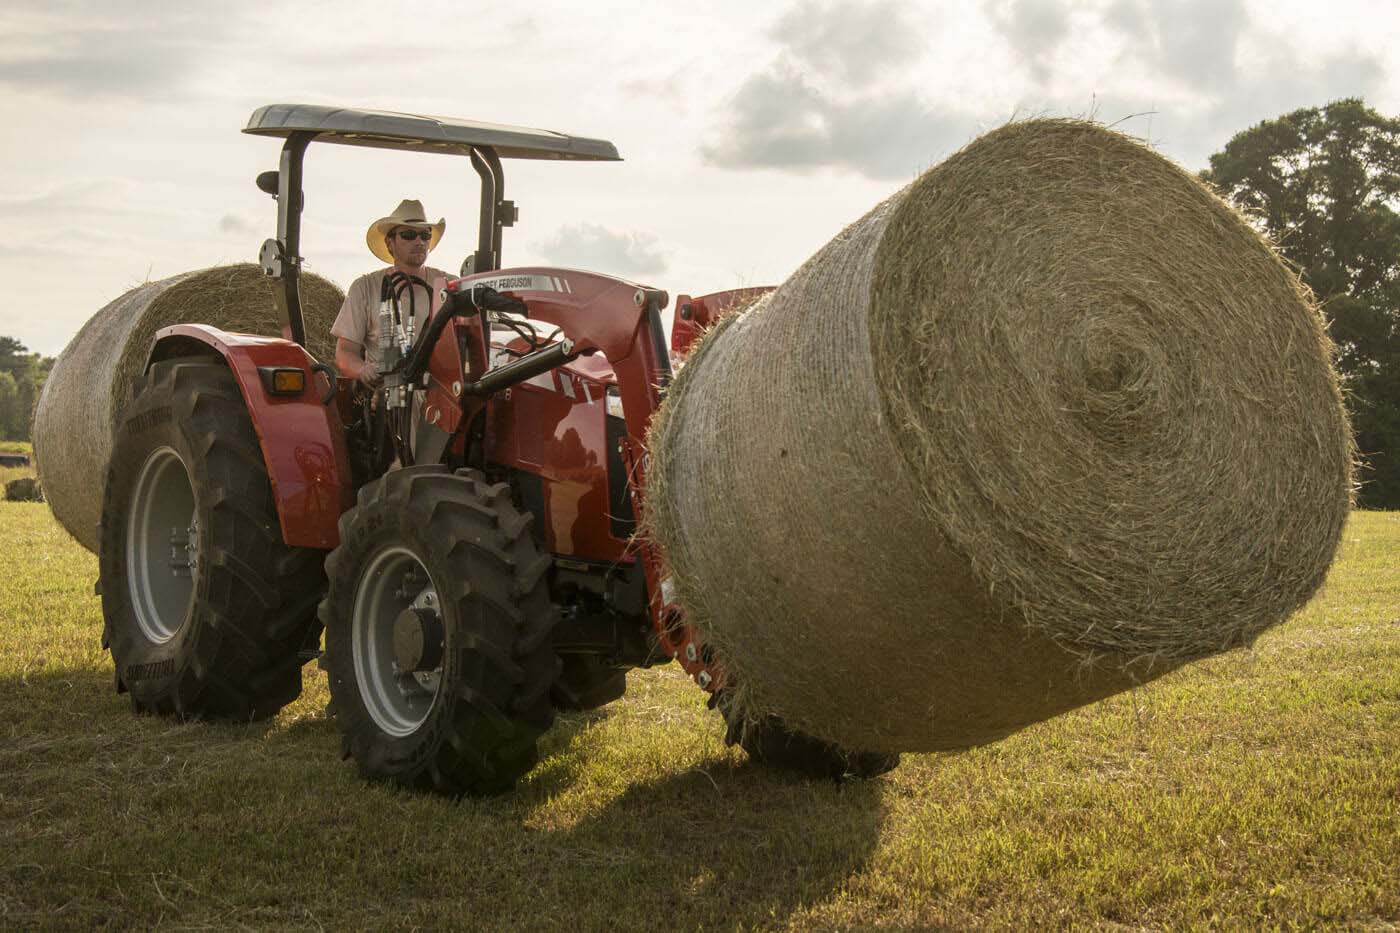
[[(34, 413), (35, 466), (55, 517), (84, 548), (98, 546), (112, 434), (155, 332), (188, 322), (280, 335), (276, 284), (251, 262), (147, 282), (92, 315), (59, 354)], [(302, 275), (307, 342), (319, 360), (335, 357), (330, 324), (343, 298), (330, 282)]]

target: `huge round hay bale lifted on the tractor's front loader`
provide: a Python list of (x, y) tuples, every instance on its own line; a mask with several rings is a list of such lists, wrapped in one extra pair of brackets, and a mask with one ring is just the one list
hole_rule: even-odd
[(1351, 502), (1331, 357), (1194, 178), (1015, 123), (706, 338), (647, 521), (750, 719), (976, 745), (1308, 602)]

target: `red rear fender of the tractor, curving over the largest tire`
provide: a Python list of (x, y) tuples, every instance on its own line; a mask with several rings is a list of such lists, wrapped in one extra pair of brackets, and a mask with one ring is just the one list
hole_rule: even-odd
[[(329, 388), (315, 359), (283, 338), (228, 333), (206, 324), (176, 324), (157, 331), (146, 367), (176, 356), (218, 356), (232, 371), (258, 431), (267, 476), (272, 479), (277, 521), (286, 544), (297, 548), (335, 548), (336, 523), (353, 504), (350, 459), (344, 426), (336, 405), (325, 405)], [(260, 368), (298, 368), (307, 374), (300, 395), (273, 395)]]

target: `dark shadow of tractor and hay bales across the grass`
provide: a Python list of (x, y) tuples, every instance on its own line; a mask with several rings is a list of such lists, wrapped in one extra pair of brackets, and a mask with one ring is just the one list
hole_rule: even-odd
[[(717, 740), (617, 731), (615, 707), (560, 716), (515, 793), (452, 801), (361, 782), (319, 710), (248, 726), (136, 717), (108, 670), (0, 681), (0, 696), (17, 692), (28, 714), (0, 749), (0, 825), (18, 820), (14, 859), (48, 881), (15, 895), (15, 918), (71, 905), (154, 922), (174, 899), (214, 925), (311, 911), (370, 926), (783, 926), (865, 870), (885, 813), (882, 780), (805, 782), (715, 755)], [(90, 891), (112, 846), (126, 853), (118, 904)], [(326, 866), (336, 884), (304, 881)]]

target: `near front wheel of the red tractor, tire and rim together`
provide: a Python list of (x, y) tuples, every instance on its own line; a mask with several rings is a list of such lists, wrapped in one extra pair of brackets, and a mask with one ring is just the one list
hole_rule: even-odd
[(342, 516), (322, 665), (364, 778), (482, 796), (535, 766), (560, 665), (532, 523), (507, 485), (438, 465), (391, 471)]

